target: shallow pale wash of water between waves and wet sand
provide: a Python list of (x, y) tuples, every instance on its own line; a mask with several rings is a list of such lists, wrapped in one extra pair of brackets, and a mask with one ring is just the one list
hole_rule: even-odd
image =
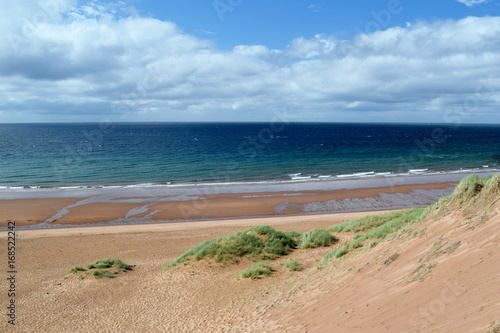
[[(273, 188), (287, 188), (303, 186), (311, 190), (329, 189), (352, 189), (368, 187), (384, 187), (394, 185), (426, 184), (449, 181), (460, 181), (470, 174), (490, 176), (500, 172), (500, 169), (466, 169), (449, 171), (424, 171), (410, 170), (402, 173), (384, 172), (360, 172), (351, 175), (338, 176), (297, 176), (291, 179), (262, 179), (262, 180), (240, 180), (240, 181), (206, 181), (186, 183), (141, 183), (141, 184), (113, 184), (113, 185), (67, 185), (67, 186), (0, 186), (0, 200), (22, 199), (22, 198), (57, 198), (62, 197), (84, 197), (102, 192), (126, 192), (126, 193), (164, 193), (174, 192), (211, 192), (213, 188), (224, 188), (228, 193), (243, 193), (248, 187), (256, 188), (249, 192), (272, 192)], [(231, 191), (231, 188), (237, 189)], [(200, 190), (202, 189), (202, 190)], [(260, 189), (260, 190), (259, 190)], [(239, 192), (238, 192), (239, 191)], [(277, 190), (279, 191), (279, 189)], [(124, 194), (125, 196), (125, 194)], [(137, 197), (138, 195), (129, 195)]]

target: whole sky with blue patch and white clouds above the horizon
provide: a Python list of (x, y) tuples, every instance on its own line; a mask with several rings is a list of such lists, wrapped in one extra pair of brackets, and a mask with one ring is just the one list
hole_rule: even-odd
[(497, 0), (0, 0), (0, 122), (500, 124)]

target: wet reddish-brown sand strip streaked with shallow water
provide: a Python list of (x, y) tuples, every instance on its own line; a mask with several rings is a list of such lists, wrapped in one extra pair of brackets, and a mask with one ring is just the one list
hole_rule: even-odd
[[(0, 227), (6, 226), (8, 220), (15, 220), (19, 226), (35, 225), (49, 219), (63, 208), (67, 210), (67, 213), (54, 218), (53, 221), (50, 221), (51, 224), (86, 224), (110, 221), (114, 221), (113, 223), (144, 223), (186, 219), (383, 210), (418, 204), (428, 205), (443, 195), (440, 191), (451, 193), (452, 188), (453, 185), (450, 183), (334, 191), (300, 191), (299, 188), (288, 192), (197, 195), (193, 200), (184, 201), (178, 201), (169, 196), (106, 197), (105, 199), (96, 196), (71, 199), (0, 200), (2, 211)], [(417, 192), (426, 190), (428, 191), (426, 193), (432, 194), (431, 198)], [(381, 195), (386, 197), (392, 195), (393, 197), (384, 203)], [(420, 202), (420, 200), (423, 201)], [(312, 211), (307, 210), (308, 207), (314, 205), (316, 208), (313, 207)], [(278, 210), (280, 206), (284, 208)]]

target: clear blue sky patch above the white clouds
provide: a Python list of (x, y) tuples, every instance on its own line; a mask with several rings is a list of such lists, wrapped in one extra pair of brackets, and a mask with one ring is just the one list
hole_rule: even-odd
[(406, 22), (418, 20), (500, 14), (500, 4), (494, 2), (466, 6), (456, 0), (399, 0), (393, 2), (395, 8), (401, 9), (398, 14), (391, 13), (387, 24), (385, 17), (379, 16), (382, 20), (380, 24), (373, 12), (387, 11), (391, 1), (176, 0), (159, 3), (136, 0), (131, 3), (145, 15), (173, 21), (189, 34), (215, 40), (222, 49), (240, 44), (284, 48), (294, 38), (311, 38), (316, 34), (352, 38), (359, 30), (372, 30), (371, 25), (366, 26), (371, 21), (376, 21), (380, 29), (385, 29), (404, 27)]

